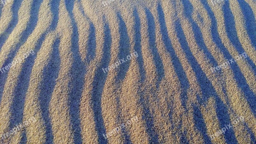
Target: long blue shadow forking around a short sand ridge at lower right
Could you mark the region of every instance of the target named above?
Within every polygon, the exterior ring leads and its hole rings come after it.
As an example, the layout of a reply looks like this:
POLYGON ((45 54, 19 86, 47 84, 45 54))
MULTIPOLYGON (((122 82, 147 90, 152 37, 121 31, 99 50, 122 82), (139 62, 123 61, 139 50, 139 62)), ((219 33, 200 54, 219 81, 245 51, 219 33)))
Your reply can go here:
MULTIPOLYGON (((217 95, 214 87, 212 86, 212 83, 209 81, 203 70, 200 68, 200 65, 197 63, 196 58, 193 56, 192 52, 189 49, 188 43, 186 41, 186 37, 183 33, 183 30, 180 25, 180 21, 176 22, 176 31, 178 34, 179 42, 181 44, 182 49, 184 50, 186 57, 193 69, 193 71, 196 73, 196 79, 197 82, 200 85, 201 91, 203 93, 202 98, 197 96, 198 102, 200 105, 204 105, 205 102, 207 102, 208 98, 210 96, 213 96, 213 98, 216 100, 216 113, 217 117, 220 122, 220 127, 225 127, 225 124, 230 123, 230 117, 228 114, 228 108, 225 106, 223 101, 219 98, 217 95)), ((202 116, 202 113, 198 106, 194 105, 194 120, 196 128, 201 132, 203 135, 204 141, 206 143, 211 143, 211 140, 209 136, 207 135, 206 131, 206 124, 204 122, 204 118, 202 116)), ((236 137, 233 130, 229 130, 224 134, 225 139, 227 140, 227 143, 237 143, 236 137)))

